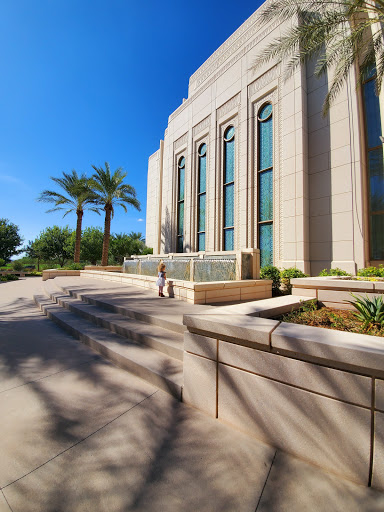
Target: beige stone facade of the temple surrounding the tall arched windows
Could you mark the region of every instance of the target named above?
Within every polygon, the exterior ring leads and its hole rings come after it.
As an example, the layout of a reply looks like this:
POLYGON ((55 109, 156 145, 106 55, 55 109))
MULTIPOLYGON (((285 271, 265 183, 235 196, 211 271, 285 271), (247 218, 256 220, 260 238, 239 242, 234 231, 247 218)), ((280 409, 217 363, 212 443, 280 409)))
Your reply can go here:
MULTIPOLYGON (((169 117, 164 138, 161 252, 176 250, 177 161, 186 158, 184 250, 196 250, 197 148, 207 144, 206 250, 223 249, 223 133, 235 126, 235 250, 257 247, 257 112, 273 104, 274 264, 312 275, 325 267, 364 266, 364 217, 358 103, 354 77, 329 115, 327 78, 313 66, 283 80, 279 66, 254 72, 257 52, 280 34, 252 15, 192 75, 189 97, 169 117)), ((152 165, 152 164, 151 164, 152 165)), ((157 213, 150 167, 147 231, 157 213)), ((155 243, 152 243, 155 247, 155 243)))

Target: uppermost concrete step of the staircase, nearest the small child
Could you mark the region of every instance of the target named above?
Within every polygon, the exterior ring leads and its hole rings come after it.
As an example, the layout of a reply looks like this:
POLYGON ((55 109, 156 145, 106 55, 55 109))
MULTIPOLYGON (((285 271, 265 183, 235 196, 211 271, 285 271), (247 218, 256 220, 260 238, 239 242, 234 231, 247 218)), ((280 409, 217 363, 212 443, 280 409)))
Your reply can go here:
MULTIPOLYGON (((183 325, 182 314, 175 314, 174 318, 172 319, 170 318, 171 315, 168 315, 167 318, 164 318, 158 312, 150 311, 148 305, 143 306, 135 304, 134 301, 124 301, 124 299, 115 298, 111 295, 108 295, 108 293, 102 295, 89 292, 84 293, 81 291, 73 290, 70 286, 66 287, 65 285, 54 283, 54 281, 56 281, 56 279, 45 281, 45 283, 49 283, 49 286, 56 287, 61 292, 68 294, 71 297, 82 300, 83 302, 97 306, 106 311, 129 317, 134 320, 139 320, 147 324, 156 325, 163 329, 167 329, 168 331, 173 331, 179 334, 184 334, 184 331, 186 330, 185 325, 183 325)), ((168 303, 169 301, 169 308, 172 308, 175 304, 172 302, 174 299, 165 298, 160 300, 162 304, 165 304, 165 302, 168 303)))

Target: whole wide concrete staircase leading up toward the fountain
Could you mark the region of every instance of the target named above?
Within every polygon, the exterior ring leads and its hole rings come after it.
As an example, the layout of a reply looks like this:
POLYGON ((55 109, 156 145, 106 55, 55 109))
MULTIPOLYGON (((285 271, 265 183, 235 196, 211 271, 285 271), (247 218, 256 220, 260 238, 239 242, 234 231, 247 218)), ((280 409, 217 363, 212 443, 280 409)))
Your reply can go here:
POLYGON ((40 310, 106 359, 181 400, 183 303, 140 290, 125 292, 124 299, 123 288, 112 283, 99 281, 97 289, 91 280, 81 279, 79 286, 75 279, 45 281, 42 294, 34 296, 40 310))

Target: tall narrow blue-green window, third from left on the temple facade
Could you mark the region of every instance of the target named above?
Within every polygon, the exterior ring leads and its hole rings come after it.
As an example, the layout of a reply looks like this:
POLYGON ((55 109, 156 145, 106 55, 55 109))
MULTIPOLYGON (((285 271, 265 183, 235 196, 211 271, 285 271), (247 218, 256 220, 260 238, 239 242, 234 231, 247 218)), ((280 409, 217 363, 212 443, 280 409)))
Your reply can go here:
POLYGON ((235 231, 235 128, 229 126, 224 133, 224 251, 233 251, 235 231))

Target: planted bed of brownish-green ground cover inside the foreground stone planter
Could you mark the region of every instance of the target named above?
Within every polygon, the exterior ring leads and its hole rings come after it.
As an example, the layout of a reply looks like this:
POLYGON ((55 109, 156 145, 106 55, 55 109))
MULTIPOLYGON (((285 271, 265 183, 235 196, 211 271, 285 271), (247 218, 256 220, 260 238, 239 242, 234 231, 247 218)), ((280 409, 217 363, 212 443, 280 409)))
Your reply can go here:
POLYGON ((384 326, 373 324, 366 326, 364 322, 356 318, 354 311, 318 307, 315 301, 303 305, 297 311, 275 317, 275 320, 336 331, 384 336, 384 326))

